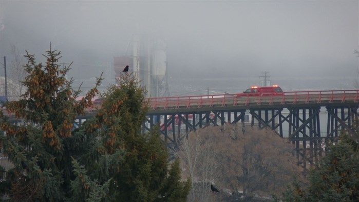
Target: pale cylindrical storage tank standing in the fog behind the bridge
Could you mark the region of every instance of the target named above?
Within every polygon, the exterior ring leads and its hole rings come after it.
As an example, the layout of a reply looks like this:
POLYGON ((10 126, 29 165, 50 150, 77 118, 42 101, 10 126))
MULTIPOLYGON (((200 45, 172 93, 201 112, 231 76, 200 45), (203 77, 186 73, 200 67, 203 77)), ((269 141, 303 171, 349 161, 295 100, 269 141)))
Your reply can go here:
POLYGON ((151 74, 152 79, 161 82, 166 74, 167 51, 163 41, 154 43, 152 52, 151 74))

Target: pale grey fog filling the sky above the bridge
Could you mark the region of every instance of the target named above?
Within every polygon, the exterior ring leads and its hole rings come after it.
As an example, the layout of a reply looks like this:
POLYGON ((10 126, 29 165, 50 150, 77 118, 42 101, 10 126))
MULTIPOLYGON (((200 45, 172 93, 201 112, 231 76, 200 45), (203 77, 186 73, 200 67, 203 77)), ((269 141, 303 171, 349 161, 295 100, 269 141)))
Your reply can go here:
POLYGON ((167 43, 173 95, 240 92, 264 71, 286 90, 354 89, 358 78, 358 1, 0 0, 0 19, 0 57, 10 63, 15 45, 43 60, 51 42, 79 82, 134 34, 167 43))

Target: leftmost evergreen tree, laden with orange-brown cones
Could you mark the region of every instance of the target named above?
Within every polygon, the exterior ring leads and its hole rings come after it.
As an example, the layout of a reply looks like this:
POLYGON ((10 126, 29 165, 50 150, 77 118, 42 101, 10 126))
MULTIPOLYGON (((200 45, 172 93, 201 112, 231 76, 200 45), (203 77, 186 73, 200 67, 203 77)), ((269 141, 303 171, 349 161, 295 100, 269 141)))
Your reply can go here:
MULTIPOLYGON (((3 193, 12 201, 63 201, 71 179, 71 158, 81 150, 78 137, 72 136, 75 117, 92 105, 96 87, 81 101, 80 91, 71 89, 72 80, 65 78, 69 67, 58 64, 61 52, 44 55, 45 65, 35 62, 27 52, 26 88, 23 98, 6 105, 8 115, 0 112, 2 152, 13 164, 2 181, 3 193), (21 123, 14 124, 14 122, 21 123), (71 142, 76 144, 69 144, 71 142), (80 147, 79 147, 80 146, 80 147)), ((82 141, 82 140, 81 140, 82 141)))

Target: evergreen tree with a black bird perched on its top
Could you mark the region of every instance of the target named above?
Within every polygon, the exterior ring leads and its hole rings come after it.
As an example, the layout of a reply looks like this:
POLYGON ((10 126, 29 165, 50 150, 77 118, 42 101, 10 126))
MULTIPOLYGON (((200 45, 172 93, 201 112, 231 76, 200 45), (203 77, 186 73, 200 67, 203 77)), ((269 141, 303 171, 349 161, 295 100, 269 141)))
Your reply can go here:
POLYGON ((133 75, 125 74, 104 93, 102 108, 83 126, 99 139, 81 163, 89 178, 100 184, 110 180, 108 200, 185 201, 190 182, 180 181, 179 161, 169 165, 158 130, 141 134, 147 103, 138 86, 133 75))

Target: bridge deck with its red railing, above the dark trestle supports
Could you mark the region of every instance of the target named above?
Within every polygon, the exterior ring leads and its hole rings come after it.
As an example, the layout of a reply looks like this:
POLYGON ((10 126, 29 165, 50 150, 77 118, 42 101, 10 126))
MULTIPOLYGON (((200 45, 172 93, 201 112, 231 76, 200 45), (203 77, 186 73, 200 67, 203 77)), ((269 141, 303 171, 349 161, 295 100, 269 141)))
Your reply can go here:
POLYGON ((272 96, 237 96, 237 94, 150 98, 149 114, 177 111, 201 111, 208 108, 260 109, 351 104, 357 105, 359 90, 295 91, 272 96))

